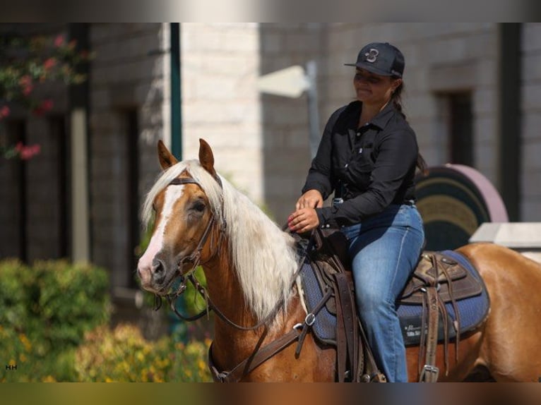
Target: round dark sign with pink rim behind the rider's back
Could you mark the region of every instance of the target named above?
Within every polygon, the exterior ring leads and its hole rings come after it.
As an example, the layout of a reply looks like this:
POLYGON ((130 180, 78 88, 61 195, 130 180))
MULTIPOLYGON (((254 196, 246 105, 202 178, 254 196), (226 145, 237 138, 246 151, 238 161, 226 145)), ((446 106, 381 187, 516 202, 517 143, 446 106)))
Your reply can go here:
POLYGON ((456 249, 467 244, 483 222, 509 221, 496 188, 472 167, 432 167, 415 181, 427 250, 456 249))

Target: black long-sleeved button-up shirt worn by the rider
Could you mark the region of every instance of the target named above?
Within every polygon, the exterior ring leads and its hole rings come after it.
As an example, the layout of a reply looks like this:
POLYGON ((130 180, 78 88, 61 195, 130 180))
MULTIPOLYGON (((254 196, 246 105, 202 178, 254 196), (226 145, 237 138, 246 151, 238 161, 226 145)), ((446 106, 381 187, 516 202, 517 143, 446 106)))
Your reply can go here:
POLYGON ((333 191, 344 203, 317 208, 320 226, 347 226, 415 200, 415 132, 392 103, 358 128, 362 102, 336 110, 328 120, 302 193, 333 191))

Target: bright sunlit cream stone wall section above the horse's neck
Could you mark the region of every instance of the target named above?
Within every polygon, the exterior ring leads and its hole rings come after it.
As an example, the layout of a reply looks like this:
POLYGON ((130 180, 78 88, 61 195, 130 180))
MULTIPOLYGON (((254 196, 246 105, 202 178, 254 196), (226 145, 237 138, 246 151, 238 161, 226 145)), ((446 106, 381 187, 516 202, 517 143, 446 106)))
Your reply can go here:
POLYGON ((199 138, 215 168, 263 202, 257 23, 182 23, 183 159, 197 159, 199 138))

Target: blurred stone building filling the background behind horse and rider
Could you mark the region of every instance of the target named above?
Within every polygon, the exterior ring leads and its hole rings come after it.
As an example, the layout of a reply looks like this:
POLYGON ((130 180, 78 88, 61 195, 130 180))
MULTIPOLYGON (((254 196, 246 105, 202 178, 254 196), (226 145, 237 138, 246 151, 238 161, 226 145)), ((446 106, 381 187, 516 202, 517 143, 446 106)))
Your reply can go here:
POLYGON ((498 188, 511 220, 541 221, 541 24, 16 29, 64 33, 95 59, 85 85, 42 89, 55 101, 50 114, 14 111, 2 126, 2 139, 39 142, 42 154, 0 162, 1 258, 90 260, 111 271, 114 294, 130 296, 142 237, 138 210, 160 171, 158 139, 186 159, 206 139, 218 171, 283 224, 311 159, 307 96, 261 94, 257 79, 315 61, 321 129, 353 99, 352 69, 343 64, 374 41, 405 54, 406 114, 427 162, 475 167, 498 188))

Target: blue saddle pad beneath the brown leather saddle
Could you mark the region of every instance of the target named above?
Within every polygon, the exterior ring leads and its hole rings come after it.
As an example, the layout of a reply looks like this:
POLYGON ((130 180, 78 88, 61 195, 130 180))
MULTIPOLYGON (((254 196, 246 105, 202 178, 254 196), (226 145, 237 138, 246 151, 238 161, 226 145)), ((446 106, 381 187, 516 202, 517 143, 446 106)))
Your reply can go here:
MULTIPOLYGON (((456 260, 463 265, 479 280, 483 286, 482 293, 478 296, 465 298, 457 301, 458 313, 460 315, 460 333, 468 332, 475 329, 484 319, 487 317, 490 302, 487 290, 484 288, 484 283, 477 270, 471 265, 471 263, 460 253, 456 253, 453 250, 445 250, 442 254, 456 260)), ((307 304, 309 312, 319 304, 323 298, 323 291, 316 279, 316 274, 312 270, 309 262, 305 262, 302 268, 302 287, 304 290, 304 299, 307 304)), ((451 303, 446 303, 448 311, 448 334, 449 337, 455 337, 455 331, 453 330, 453 320, 455 320, 455 313, 451 303)), ((400 327, 402 330, 405 345, 420 344, 421 338, 421 325, 422 325, 422 305, 405 305, 398 304, 397 306, 398 318, 400 319, 400 327)), ((441 315, 440 315, 441 320, 441 315)), ((336 315, 331 313, 326 306, 323 306, 319 313, 316 314, 316 320, 312 325, 312 330, 316 337, 328 344, 336 343, 336 315)), ((444 325, 443 322, 439 322, 439 340, 444 339, 444 325)))

